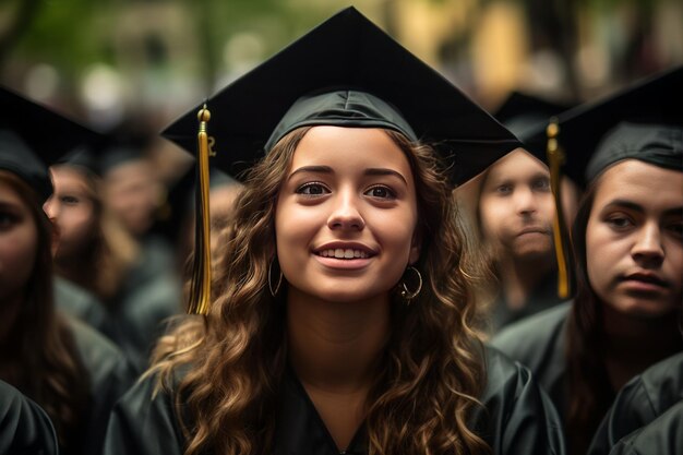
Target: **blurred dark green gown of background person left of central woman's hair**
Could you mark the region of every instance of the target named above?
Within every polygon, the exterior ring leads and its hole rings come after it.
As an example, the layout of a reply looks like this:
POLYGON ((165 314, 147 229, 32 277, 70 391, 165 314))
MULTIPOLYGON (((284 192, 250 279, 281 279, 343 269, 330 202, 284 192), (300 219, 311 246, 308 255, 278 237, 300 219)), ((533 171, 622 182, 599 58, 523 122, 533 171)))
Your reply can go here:
POLYGON ((180 312, 180 283, 170 253, 155 241, 145 242, 139 262, 122 288, 107 302, 103 333, 125 355, 136 374, 144 372, 164 322, 180 312))

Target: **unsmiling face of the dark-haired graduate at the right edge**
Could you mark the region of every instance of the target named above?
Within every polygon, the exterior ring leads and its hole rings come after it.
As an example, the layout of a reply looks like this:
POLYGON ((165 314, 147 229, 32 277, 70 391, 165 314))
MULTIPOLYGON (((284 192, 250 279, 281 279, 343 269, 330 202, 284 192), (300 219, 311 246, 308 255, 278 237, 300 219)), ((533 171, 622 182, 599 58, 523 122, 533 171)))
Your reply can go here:
POLYGON ((586 229, 590 285, 612 309, 655 318, 681 308, 683 172, 625 160, 601 177, 586 229))

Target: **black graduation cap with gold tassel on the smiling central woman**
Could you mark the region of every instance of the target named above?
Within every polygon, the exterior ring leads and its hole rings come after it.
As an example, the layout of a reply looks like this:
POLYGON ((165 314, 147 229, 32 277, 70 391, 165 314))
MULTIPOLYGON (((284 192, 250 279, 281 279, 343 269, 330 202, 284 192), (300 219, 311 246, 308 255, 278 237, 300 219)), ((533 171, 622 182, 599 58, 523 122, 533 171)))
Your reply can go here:
MULTIPOLYGON (((520 146, 488 112, 354 8, 232 82, 206 107, 216 123, 209 132, 211 116, 207 109, 200 110, 197 207, 203 213, 197 214, 197 236, 206 239, 208 187, 202 181, 208 173, 209 153, 215 154, 212 165, 242 179, 244 170, 296 128, 386 128, 432 143, 446 161, 452 182, 459 183, 520 146)), ((163 135, 194 151, 200 108, 163 135)), ((205 311, 209 250, 199 237, 195 244, 203 247, 195 253, 195 278, 205 289, 192 291, 192 299, 203 300, 205 311)))

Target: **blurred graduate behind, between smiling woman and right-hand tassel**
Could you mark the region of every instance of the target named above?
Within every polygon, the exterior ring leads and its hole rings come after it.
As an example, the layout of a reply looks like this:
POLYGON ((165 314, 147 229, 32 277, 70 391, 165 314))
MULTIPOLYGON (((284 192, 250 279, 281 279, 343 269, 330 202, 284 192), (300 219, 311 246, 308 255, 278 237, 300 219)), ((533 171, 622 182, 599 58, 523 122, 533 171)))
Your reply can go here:
POLYGON ((456 190, 462 216, 471 225, 472 254, 487 252, 496 284, 487 314, 488 331, 553 307, 558 295, 552 224, 555 202, 546 165, 544 141, 531 141, 551 116, 566 106, 513 93, 496 113, 523 143, 490 166, 480 177, 456 190), (470 199, 470 201, 465 201, 470 199))

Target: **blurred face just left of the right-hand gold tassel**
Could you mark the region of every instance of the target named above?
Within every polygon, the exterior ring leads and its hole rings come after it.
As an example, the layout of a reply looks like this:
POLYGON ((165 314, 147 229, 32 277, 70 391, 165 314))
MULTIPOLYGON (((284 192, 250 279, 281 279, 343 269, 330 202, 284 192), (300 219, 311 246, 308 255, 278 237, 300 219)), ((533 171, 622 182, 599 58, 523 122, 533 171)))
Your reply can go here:
POLYGON ((519 260, 552 255, 554 215, 550 173, 541 161, 519 148, 490 168, 479 216, 487 241, 501 253, 519 260))

